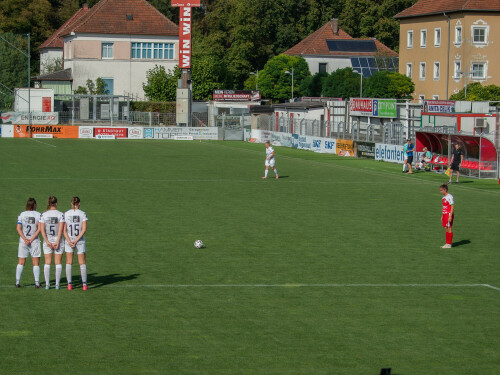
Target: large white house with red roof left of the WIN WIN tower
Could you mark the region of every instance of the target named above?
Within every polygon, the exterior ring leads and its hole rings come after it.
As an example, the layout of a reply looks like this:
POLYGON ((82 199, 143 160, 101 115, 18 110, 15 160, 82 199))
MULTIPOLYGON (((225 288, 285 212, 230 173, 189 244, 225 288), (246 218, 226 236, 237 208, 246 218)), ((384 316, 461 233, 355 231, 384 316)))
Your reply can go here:
MULTIPOLYGON (((143 98, 146 72, 178 65, 178 26, 146 0, 101 0, 84 5, 40 47, 42 87, 71 82, 72 90, 102 78, 108 94, 143 98), (44 74, 62 58, 64 74, 44 74), (62 80, 60 80, 62 79, 62 80)), ((57 89, 55 90, 57 93, 57 89)))

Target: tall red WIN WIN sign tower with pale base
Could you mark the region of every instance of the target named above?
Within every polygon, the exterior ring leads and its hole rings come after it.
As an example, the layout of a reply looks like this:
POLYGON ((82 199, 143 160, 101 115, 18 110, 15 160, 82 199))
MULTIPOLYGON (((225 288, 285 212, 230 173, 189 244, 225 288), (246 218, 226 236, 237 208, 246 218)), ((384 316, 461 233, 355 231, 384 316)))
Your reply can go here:
POLYGON ((177 85, 177 126, 191 126, 191 19, 192 8, 201 6, 200 0, 172 0, 173 7, 179 7, 179 68, 181 79, 177 85))

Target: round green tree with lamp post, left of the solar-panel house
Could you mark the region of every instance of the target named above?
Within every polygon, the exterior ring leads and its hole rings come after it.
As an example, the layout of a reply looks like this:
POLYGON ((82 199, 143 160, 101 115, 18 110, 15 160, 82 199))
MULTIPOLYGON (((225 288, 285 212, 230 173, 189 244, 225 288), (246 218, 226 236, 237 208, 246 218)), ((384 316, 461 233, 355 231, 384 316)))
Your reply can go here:
POLYGON ((262 96, 273 101, 285 101, 292 95, 292 76, 285 72, 293 69, 294 97, 302 95, 300 85, 311 75, 306 60, 301 56, 278 55, 269 60, 259 71, 259 90, 262 96))

